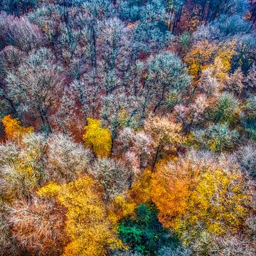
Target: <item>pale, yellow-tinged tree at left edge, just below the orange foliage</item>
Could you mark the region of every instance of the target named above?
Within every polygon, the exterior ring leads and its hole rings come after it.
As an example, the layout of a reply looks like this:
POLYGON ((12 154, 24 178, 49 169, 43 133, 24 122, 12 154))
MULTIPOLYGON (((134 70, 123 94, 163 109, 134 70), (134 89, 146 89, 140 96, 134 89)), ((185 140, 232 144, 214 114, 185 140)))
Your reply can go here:
POLYGON ((29 200, 44 174, 46 139, 41 134, 26 134, 17 142, 0 147, 1 201, 12 203, 16 198, 29 200))

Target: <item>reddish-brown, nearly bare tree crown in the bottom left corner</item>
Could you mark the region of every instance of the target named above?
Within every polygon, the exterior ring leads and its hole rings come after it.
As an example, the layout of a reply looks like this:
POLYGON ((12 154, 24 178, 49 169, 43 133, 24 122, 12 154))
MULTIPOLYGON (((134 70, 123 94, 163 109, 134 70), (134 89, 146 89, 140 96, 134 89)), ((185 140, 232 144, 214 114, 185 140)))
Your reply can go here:
POLYGON ((60 255, 66 244, 65 215, 53 201, 34 196, 15 201, 9 210, 12 235, 23 248, 37 255, 60 255))

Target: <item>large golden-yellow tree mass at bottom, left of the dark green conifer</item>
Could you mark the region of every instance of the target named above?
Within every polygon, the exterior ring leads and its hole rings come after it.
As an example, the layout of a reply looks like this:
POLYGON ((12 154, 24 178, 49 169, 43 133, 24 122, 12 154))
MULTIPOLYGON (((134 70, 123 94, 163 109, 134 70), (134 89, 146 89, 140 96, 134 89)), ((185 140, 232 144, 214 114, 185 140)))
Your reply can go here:
POLYGON ((38 191, 40 196, 55 198, 67 208, 66 232, 70 243, 63 255, 107 255, 107 248, 122 247, 107 220, 102 191, 89 176, 62 186, 49 183, 38 191))

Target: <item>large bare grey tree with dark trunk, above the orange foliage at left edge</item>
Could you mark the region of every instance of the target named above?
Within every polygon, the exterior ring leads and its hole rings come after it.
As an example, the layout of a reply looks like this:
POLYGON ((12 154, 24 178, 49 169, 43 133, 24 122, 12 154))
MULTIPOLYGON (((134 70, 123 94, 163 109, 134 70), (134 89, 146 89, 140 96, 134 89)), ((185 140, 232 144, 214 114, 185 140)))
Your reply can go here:
POLYGON ((18 104, 19 112, 35 113, 48 129, 51 129, 49 112, 54 111, 63 86, 63 76, 50 55, 46 48, 31 53, 26 62, 6 78, 9 97, 18 104))

